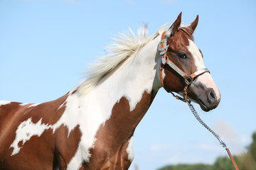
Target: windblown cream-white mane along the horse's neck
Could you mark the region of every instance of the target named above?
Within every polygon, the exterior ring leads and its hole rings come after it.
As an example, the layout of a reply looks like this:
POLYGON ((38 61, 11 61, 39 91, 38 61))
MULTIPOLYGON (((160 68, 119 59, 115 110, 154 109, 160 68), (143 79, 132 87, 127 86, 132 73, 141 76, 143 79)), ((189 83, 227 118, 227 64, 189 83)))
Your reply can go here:
POLYGON ((131 29, 127 33, 119 33, 116 38, 113 38, 114 42, 107 46, 106 49, 109 53, 103 55, 88 67, 88 71, 85 72, 87 79, 78 86, 80 94, 87 94, 92 91, 105 75, 112 72, 117 65, 128 58, 134 57, 134 54, 139 52, 142 47, 161 35, 168 25, 169 23, 161 26, 156 33, 149 37, 147 37, 146 24, 137 30, 136 35, 131 29))

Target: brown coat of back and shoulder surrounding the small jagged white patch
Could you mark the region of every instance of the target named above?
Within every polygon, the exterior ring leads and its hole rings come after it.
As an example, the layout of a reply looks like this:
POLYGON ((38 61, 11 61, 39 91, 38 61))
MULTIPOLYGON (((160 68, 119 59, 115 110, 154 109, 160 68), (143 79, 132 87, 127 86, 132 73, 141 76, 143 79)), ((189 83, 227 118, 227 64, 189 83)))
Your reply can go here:
POLYGON ((75 155, 80 142, 81 132, 76 126, 68 135, 68 128, 61 125, 60 128, 44 130, 40 137, 32 136, 24 144, 18 142, 21 147, 18 154, 11 156, 14 148, 10 147, 16 138, 16 130, 19 125, 29 118, 33 123, 54 125, 65 111, 65 101, 68 94, 55 101, 41 103, 38 106, 31 104, 21 106, 21 103, 11 102, 0 107, 0 169, 53 169, 60 166, 65 169, 66 164, 75 155), (63 104, 62 107, 60 107, 63 104))

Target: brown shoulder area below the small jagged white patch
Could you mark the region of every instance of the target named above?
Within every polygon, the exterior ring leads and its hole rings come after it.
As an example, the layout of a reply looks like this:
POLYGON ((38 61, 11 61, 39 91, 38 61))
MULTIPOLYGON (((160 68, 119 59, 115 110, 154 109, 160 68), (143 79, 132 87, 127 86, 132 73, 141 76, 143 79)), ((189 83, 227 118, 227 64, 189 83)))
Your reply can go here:
POLYGON ((81 136, 79 125, 71 130, 69 135, 65 125, 61 125, 54 134, 51 129, 45 130, 40 137, 35 135, 24 145, 20 145, 22 148, 18 154, 2 157, 4 162, 0 167, 21 170, 55 169, 56 167, 66 169, 78 149, 81 136))

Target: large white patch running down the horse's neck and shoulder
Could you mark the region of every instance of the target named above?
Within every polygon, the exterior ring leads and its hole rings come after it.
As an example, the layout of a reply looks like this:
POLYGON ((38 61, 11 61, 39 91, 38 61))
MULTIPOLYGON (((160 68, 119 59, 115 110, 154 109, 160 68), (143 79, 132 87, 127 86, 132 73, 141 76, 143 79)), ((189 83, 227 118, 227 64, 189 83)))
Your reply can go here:
MULTIPOLYGON (((90 149, 94 147, 97 130, 110 118, 115 103, 125 97, 129 101, 129 110, 133 111, 142 99, 142 94, 145 91, 147 93, 152 91, 156 79, 154 57, 158 42, 159 40, 155 40, 152 45, 144 48, 137 54, 136 59, 126 60, 113 74, 103 78, 95 89, 85 96, 82 94, 68 96, 65 113, 58 123, 66 125, 69 131, 79 123, 82 137, 67 169, 80 169, 83 161, 90 161, 90 149), (68 119, 69 117, 72 117, 72 120, 68 119)), ((158 89, 154 90, 158 91, 158 89)), ((129 156, 132 159, 132 152, 129 156)))

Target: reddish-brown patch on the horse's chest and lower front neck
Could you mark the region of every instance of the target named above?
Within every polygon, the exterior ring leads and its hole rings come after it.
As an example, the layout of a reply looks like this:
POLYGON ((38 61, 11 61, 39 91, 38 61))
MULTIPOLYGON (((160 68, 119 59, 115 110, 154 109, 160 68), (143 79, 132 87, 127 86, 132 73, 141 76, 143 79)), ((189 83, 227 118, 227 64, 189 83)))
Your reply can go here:
POLYGON ((129 140, 153 99, 153 91, 150 94, 145 91, 142 100, 130 111, 129 101, 122 97, 112 108, 110 119, 100 125, 90 149, 90 162, 85 162, 81 169, 128 169, 129 140))

